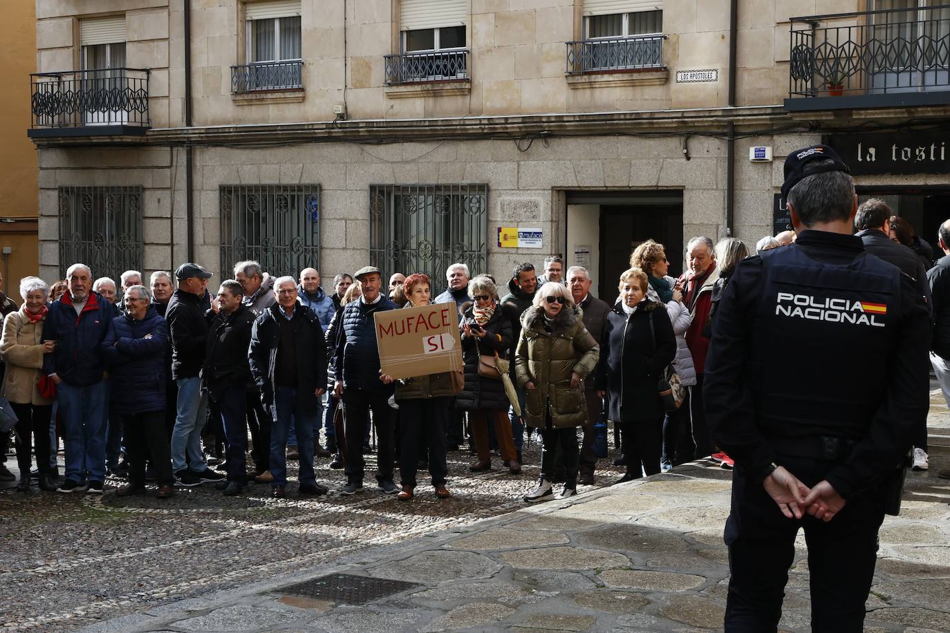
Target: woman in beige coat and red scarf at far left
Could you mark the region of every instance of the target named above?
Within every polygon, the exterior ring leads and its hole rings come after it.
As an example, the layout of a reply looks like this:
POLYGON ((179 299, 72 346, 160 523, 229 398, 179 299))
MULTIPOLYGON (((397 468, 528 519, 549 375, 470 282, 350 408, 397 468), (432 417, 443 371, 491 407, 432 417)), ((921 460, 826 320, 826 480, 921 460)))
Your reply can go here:
POLYGON ((0 356, 7 363, 4 373, 3 396, 10 401, 16 417, 16 462, 20 467, 20 481, 16 490, 29 490, 29 449, 35 442, 36 467, 40 472, 40 488, 55 491, 59 485, 49 465, 49 415, 52 400, 40 393, 37 382, 43 377, 43 355, 51 353, 55 341, 40 343, 43 324, 47 318, 47 283, 39 277, 20 280, 23 306, 10 312, 4 319, 0 338, 0 356), (30 441, 32 435, 32 442, 30 441))

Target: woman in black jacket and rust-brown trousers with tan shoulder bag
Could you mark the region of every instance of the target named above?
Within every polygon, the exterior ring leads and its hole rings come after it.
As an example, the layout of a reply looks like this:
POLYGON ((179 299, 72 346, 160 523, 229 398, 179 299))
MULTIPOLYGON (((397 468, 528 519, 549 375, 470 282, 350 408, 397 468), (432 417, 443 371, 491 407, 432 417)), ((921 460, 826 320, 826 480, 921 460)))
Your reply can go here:
POLYGON ((466 386, 455 399, 459 409, 468 411, 472 437, 478 459, 468 470, 472 472, 491 469, 491 454, 488 448, 488 420, 495 424, 498 448, 512 475, 522 472, 511 436, 508 420, 508 396, 504 391, 501 375, 489 376, 495 357, 505 358, 511 347, 511 321, 504 316, 501 305, 495 300, 495 283, 485 275, 468 282, 468 296, 474 303, 462 305, 462 360, 465 363, 466 386), (480 364, 482 365, 480 371, 480 364))

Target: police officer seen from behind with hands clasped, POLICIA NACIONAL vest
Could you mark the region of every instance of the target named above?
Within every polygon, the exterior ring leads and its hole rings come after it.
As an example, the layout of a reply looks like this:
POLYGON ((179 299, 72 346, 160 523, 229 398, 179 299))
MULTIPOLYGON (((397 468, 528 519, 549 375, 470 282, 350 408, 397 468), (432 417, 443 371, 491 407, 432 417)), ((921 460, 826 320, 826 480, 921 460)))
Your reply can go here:
POLYGON ((834 150, 792 152, 782 196, 798 239, 736 267, 706 362, 712 438, 735 458, 726 630, 776 630, 804 528, 812 630, 861 631, 885 491, 926 414, 927 308, 851 234, 834 150))

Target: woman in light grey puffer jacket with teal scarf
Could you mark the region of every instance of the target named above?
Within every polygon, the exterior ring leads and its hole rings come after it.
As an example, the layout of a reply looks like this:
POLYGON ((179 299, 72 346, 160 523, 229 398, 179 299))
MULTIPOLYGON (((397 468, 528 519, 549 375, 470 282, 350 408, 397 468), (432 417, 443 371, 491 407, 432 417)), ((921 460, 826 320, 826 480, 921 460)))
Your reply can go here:
MULTIPOLYGON (((676 335, 676 357, 673 366, 684 386, 696 383, 693 356, 686 346, 686 330, 692 321, 690 310, 683 305, 683 293, 675 286, 675 278, 667 274, 670 263, 662 244, 648 239, 630 255, 630 266, 647 273, 650 288, 647 297, 666 306, 676 335)), ((663 420, 663 450, 660 456, 663 471, 693 459, 693 436, 690 423, 689 396, 680 407, 663 420)))

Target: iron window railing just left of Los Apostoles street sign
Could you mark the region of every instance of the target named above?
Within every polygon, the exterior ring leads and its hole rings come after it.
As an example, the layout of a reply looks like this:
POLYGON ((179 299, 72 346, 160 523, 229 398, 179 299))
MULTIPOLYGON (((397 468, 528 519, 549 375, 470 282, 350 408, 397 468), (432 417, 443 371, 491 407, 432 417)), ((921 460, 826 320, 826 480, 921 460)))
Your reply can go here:
POLYGON ((666 35, 637 35, 567 43, 567 74, 663 68, 666 35))

